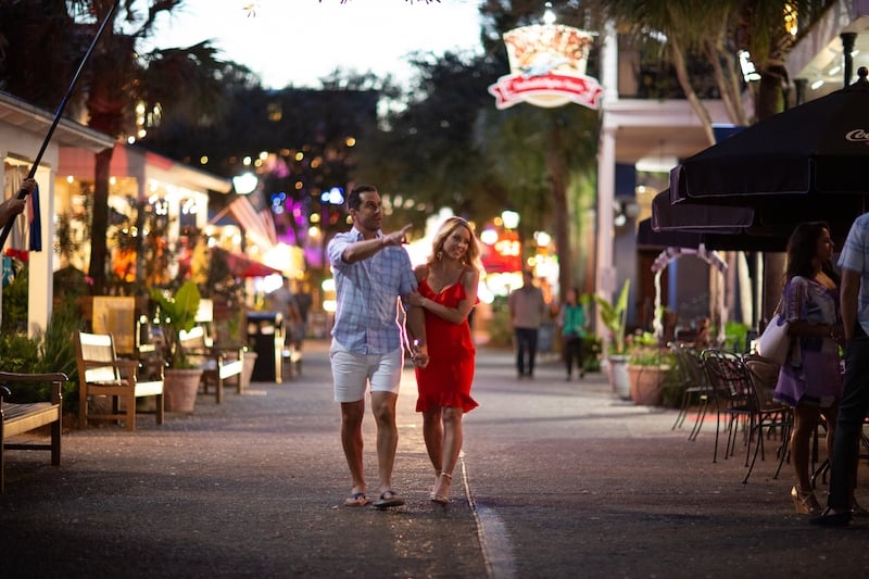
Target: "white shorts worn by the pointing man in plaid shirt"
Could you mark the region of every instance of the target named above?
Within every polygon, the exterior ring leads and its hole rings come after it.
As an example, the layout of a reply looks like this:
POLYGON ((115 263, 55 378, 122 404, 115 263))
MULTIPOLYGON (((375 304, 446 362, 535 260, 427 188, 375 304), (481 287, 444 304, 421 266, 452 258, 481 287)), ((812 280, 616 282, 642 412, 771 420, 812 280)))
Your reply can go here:
POLYGON ((336 402, 357 402, 371 392, 399 393, 404 355, 401 348, 388 354, 357 354, 332 339, 329 347, 336 402))

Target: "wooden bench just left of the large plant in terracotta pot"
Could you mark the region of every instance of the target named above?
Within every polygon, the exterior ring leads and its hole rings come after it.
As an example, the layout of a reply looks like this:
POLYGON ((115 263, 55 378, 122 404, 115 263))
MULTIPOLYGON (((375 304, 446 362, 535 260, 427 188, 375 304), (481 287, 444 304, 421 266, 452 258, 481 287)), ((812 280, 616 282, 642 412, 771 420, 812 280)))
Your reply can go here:
POLYGON ((136 400, 154 397, 156 424, 163 424, 163 373, 159 379, 140 381, 139 362, 122 360, 115 354, 111 333, 75 333, 78 365, 78 421, 81 428, 88 420, 123 420, 127 430, 136 430, 136 400), (111 399, 111 412, 90 412, 93 398, 111 399), (123 405, 122 405, 123 403, 123 405))

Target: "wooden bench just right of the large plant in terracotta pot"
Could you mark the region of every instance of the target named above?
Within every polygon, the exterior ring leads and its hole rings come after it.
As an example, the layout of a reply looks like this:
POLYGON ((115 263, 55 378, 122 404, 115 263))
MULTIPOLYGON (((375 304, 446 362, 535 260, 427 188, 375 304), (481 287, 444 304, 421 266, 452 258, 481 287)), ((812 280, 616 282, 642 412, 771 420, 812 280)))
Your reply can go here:
POLYGON ((202 368, 202 389, 205 394, 214 387, 217 404, 222 403, 224 385, 230 378, 234 379, 238 393, 242 393, 241 370, 244 367, 242 348, 214 347, 202 326, 194 326, 190 331, 181 332, 180 340, 188 361, 202 368))

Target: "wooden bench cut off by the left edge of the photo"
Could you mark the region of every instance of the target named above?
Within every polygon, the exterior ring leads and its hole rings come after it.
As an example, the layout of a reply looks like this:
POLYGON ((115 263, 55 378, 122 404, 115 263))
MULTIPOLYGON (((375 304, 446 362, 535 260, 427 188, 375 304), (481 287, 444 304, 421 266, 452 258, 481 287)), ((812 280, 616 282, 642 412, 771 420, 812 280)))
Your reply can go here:
POLYGON ((5 491, 5 451, 51 451, 51 464, 61 464, 61 423, 63 416, 61 387, 68 378, 65 374, 13 374, 0 372, 0 493, 5 491), (50 383, 50 402, 15 403, 15 385, 50 383), (10 389, 9 387, 12 387, 10 389), (10 438, 29 432, 42 426, 51 426, 51 443, 7 442, 10 438))

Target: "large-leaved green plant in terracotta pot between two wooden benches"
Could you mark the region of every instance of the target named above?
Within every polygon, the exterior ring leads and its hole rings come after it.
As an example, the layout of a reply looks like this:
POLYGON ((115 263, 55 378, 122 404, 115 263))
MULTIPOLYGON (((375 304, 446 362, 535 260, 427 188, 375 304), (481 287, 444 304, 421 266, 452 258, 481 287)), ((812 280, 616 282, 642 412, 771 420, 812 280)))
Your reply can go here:
POLYGON ((169 298, 162 290, 151 288, 151 299, 159 310, 164 355, 168 365, 163 380, 166 410, 191 413, 196 406, 202 369, 188 362, 181 345, 181 332, 190 331, 196 326, 201 299, 199 288, 188 280, 169 298))

